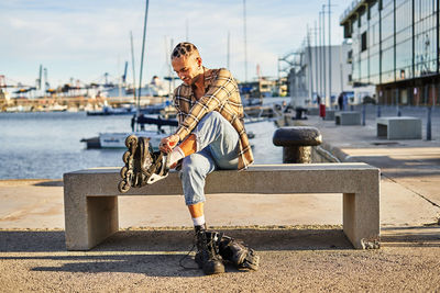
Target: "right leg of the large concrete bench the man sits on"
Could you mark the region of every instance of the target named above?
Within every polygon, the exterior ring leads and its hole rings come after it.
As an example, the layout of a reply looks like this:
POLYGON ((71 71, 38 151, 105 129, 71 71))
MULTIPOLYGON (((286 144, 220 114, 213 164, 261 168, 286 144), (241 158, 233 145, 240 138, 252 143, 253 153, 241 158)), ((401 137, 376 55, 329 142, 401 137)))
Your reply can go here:
POLYGON ((378 192, 343 194, 343 230, 354 248, 380 247, 378 192))

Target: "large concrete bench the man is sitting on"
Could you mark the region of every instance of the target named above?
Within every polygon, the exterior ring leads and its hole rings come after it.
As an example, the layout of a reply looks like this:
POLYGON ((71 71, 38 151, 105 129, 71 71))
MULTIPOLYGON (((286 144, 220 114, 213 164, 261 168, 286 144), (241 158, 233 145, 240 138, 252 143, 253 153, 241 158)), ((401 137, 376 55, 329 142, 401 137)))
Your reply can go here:
MULTIPOLYGON (((64 174, 66 247, 88 250, 119 229, 118 196, 182 194, 177 172, 152 185, 118 191, 119 168, 64 174)), ((342 193, 343 230, 355 248, 378 243, 380 170, 366 164, 254 165, 215 171, 206 193, 342 193)), ((310 211, 320 213, 319 211, 310 211)))

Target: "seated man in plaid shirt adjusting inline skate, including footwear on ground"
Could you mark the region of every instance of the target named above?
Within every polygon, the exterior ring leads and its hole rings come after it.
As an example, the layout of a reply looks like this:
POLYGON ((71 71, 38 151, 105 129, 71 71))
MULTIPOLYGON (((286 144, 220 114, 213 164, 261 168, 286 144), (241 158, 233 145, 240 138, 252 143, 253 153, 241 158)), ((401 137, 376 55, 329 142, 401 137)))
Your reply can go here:
POLYGON ((178 112, 177 131, 161 140, 152 153, 148 139, 129 137, 120 191, 151 184, 165 178, 168 169, 180 170, 185 202, 191 215, 199 268, 206 274, 224 272, 222 260, 256 270, 258 256, 243 243, 206 229, 205 179, 217 169, 243 170, 253 162, 244 129, 240 91, 231 72, 202 66, 194 44, 179 43, 172 65, 183 83, 174 91, 178 112))

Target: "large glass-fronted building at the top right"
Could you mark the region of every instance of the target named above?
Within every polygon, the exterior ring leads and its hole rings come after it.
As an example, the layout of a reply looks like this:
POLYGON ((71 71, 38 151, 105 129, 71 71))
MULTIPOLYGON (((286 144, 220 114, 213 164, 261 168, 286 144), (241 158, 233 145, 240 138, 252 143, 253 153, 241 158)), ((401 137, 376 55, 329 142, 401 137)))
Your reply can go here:
POLYGON ((382 104, 440 104, 440 0, 354 0, 340 18, 354 87, 382 104))

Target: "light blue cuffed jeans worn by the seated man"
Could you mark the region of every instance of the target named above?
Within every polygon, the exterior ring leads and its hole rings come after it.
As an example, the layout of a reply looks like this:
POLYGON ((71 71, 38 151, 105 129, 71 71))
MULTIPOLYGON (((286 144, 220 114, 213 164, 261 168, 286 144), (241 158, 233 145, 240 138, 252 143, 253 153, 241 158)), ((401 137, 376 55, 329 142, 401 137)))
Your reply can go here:
POLYGON ((179 173, 187 205, 206 201, 205 179, 210 172, 239 167, 239 134, 219 112, 206 114, 193 134, 197 153, 184 158, 179 173))

